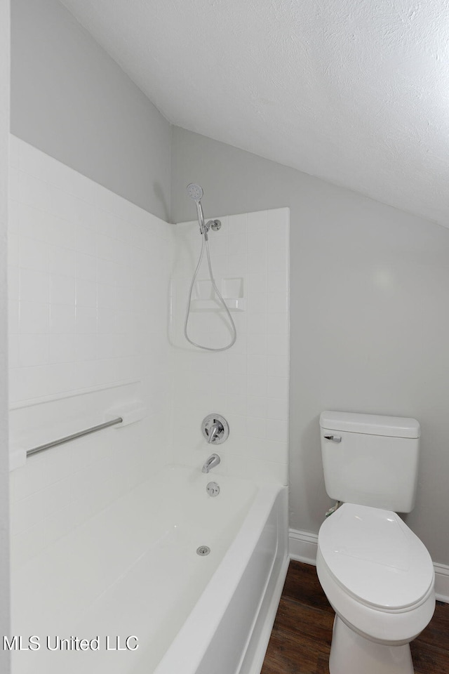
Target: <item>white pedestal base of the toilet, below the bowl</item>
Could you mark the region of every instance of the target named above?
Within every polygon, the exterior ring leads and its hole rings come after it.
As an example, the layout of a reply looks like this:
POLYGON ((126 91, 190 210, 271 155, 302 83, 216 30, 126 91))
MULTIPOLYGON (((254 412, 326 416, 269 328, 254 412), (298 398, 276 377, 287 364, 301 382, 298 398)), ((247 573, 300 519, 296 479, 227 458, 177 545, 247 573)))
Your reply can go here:
POLYGON ((330 674, 413 674, 410 645, 384 646, 361 637, 336 615, 330 674))

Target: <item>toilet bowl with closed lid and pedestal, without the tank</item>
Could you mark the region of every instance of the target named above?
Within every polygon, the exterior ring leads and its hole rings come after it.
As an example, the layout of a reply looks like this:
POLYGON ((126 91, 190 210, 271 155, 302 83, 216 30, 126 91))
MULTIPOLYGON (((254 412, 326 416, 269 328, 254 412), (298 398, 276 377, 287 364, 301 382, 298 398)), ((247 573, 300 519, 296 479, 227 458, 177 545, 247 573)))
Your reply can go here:
POLYGON ((316 570, 335 610, 330 674, 413 674, 434 613, 434 567, 391 510, 344 503, 321 525, 316 570))

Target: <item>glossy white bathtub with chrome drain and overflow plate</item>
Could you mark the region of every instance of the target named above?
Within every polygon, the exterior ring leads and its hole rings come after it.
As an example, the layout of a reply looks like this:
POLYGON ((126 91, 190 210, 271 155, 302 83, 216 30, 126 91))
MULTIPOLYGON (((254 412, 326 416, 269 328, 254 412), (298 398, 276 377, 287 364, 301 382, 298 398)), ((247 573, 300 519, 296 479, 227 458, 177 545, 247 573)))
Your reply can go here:
POLYGON ((256 674, 287 548, 286 487, 168 467, 13 569, 13 674, 256 674))

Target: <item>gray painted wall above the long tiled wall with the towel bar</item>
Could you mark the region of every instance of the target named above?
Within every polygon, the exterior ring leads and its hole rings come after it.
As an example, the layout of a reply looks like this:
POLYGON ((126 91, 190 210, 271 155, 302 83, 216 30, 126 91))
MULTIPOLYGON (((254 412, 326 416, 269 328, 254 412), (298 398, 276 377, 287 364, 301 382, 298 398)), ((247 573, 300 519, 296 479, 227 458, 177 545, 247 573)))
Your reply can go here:
POLYGON ((168 121, 58 0, 11 12, 12 133, 168 220, 168 121))

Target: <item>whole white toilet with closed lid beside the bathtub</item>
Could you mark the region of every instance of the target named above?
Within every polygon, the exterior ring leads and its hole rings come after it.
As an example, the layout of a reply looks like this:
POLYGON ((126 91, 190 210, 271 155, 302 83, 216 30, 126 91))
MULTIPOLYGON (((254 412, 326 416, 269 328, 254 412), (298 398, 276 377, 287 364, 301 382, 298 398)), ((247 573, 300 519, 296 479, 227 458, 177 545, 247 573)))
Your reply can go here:
POLYGON ((435 608, 434 567, 396 515, 415 502, 415 419, 322 412, 326 491, 344 501, 319 530, 316 571, 335 610, 330 674, 413 674, 410 641, 435 608))

